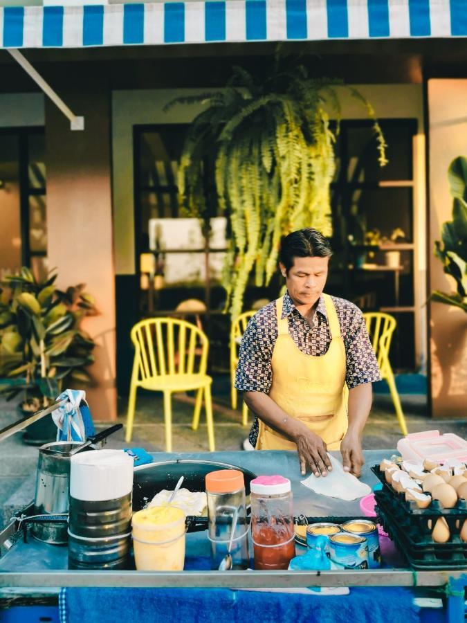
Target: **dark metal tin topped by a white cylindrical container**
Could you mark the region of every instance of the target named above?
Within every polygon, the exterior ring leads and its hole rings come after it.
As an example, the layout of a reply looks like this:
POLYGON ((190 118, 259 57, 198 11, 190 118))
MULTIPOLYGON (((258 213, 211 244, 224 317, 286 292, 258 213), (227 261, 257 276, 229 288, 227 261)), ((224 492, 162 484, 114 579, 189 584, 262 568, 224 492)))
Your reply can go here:
POLYGON ((133 459, 121 450, 71 458, 69 569, 127 568, 133 469, 133 459))

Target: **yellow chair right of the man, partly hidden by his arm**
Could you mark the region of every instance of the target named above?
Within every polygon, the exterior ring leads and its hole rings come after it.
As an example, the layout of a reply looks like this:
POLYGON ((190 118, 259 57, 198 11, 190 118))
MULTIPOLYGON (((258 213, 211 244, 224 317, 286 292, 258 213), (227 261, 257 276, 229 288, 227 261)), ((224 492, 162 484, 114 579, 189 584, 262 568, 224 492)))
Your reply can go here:
POLYGON ((378 366, 381 370, 381 377, 387 381, 390 388, 392 401, 394 408, 396 409, 397 419, 403 435, 408 435, 407 425, 405 424, 405 417, 403 414, 401 400, 399 399, 399 392, 396 388, 396 381, 394 379, 394 372, 389 359, 392 334, 396 328, 396 318, 390 316, 390 314, 383 314, 382 311, 374 311, 363 314, 365 318, 365 325, 367 325, 367 332, 369 338, 372 341, 373 350, 378 359, 378 366))

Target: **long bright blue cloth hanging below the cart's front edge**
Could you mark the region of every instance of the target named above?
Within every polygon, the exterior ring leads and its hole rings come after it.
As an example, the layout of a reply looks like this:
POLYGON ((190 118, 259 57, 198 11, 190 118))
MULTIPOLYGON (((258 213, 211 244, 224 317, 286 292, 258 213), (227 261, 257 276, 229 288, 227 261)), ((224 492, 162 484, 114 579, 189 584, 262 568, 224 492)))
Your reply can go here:
POLYGON ((228 588, 66 588, 61 623, 419 623, 406 588, 351 588, 350 595, 262 593, 228 588))

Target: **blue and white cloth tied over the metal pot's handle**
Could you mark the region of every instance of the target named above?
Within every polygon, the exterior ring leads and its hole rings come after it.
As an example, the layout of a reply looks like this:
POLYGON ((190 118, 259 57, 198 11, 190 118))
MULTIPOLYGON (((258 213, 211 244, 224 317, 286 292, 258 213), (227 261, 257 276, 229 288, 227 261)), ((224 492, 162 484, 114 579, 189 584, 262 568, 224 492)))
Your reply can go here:
POLYGON ((84 442, 95 435, 93 418, 85 401, 83 390, 65 390, 58 400, 66 399, 66 403, 55 409, 52 418, 57 425, 57 441, 84 442))

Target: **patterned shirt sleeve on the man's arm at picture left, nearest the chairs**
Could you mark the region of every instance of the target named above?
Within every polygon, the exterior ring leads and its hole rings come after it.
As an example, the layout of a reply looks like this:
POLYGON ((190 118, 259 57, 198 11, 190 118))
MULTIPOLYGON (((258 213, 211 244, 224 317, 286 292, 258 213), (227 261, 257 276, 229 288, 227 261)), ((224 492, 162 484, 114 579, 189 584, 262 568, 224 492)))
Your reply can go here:
POLYGON ((262 336, 253 316, 241 338, 239 361, 235 372, 237 390, 269 393, 273 381, 272 351, 273 344, 262 336))

